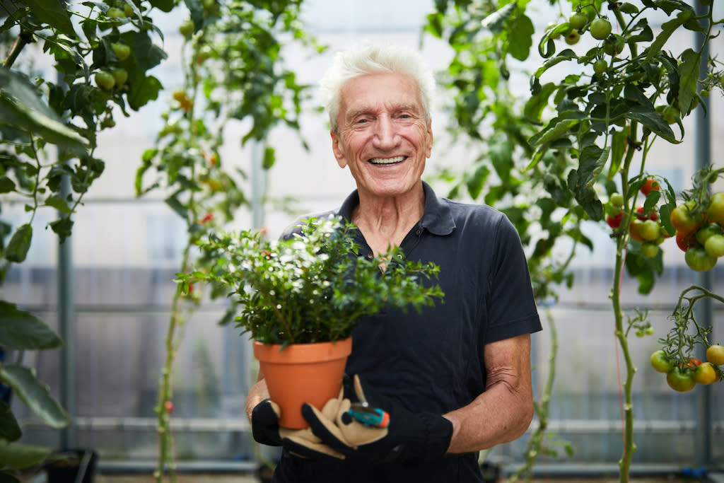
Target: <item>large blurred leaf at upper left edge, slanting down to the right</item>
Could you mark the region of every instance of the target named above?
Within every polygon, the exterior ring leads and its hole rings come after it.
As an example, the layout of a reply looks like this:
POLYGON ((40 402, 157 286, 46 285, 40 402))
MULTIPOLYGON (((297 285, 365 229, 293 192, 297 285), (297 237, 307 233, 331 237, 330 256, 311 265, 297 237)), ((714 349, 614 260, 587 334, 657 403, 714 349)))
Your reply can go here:
POLYGON ((37 135, 49 143, 85 151, 88 141, 64 124, 38 91, 16 72, 0 67, 0 125, 37 135))

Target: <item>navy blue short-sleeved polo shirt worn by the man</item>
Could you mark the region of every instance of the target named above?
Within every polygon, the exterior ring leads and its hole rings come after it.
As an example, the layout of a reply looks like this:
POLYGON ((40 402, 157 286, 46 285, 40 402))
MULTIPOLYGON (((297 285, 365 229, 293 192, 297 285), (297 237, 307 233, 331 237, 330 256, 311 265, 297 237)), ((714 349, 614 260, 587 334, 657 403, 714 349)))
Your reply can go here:
MULTIPOLYGON (((389 310, 364 319, 353 332, 346 372, 361 374, 411 411, 444 414, 484 392, 485 345, 542 327, 513 224, 490 206, 438 198, 423 184, 424 214, 400 248, 408 259, 440 267, 444 301, 421 313, 389 310)), ((358 204, 355 191, 327 214, 350 220, 358 204)), ((356 241, 359 256, 372 256, 361 233, 356 241)), ((477 453, 417 466, 319 463, 284 453, 274 476, 274 482, 482 481, 477 453)))

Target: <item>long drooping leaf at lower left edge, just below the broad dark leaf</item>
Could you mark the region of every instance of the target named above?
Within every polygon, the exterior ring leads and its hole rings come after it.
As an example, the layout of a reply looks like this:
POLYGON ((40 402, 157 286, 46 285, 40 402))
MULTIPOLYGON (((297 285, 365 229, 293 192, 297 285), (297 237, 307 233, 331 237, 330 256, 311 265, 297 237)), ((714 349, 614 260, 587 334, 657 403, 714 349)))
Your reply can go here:
POLYGON ((35 377, 35 370, 15 364, 0 366, 0 381, 9 385, 33 413, 54 429, 70 424, 68 413, 54 400, 49 387, 35 377))

